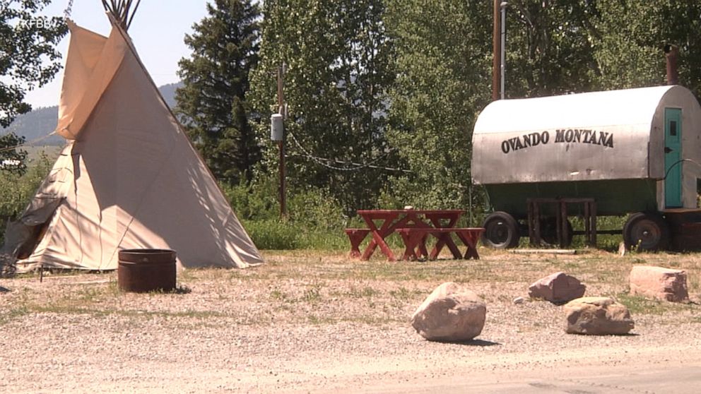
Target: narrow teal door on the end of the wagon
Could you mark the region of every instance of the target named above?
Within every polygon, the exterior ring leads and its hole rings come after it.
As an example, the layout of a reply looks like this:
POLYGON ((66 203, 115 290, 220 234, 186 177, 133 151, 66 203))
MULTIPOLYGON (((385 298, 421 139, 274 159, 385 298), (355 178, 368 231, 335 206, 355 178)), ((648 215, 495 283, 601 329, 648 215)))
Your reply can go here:
POLYGON ((681 207, 681 109, 664 109, 664 205, 681 207))

